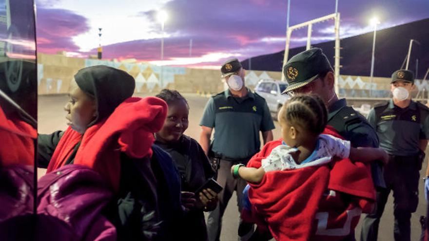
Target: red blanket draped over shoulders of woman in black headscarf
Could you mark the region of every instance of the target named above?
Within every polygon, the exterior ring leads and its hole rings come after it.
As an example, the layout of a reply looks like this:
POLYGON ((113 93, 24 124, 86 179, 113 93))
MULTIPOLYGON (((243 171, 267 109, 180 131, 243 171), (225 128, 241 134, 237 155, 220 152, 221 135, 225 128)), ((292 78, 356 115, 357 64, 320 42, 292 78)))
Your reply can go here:
POLYGON ((156 97, 130 97, 105 120, 88 128, 83 136, 70 127, 64 132, 47 172, 65 165, 78 144, 74 164, 91 167, 118 189, 120 152, 132 158, 152 155, 154 132, 167 116, 167 104, 156 97))

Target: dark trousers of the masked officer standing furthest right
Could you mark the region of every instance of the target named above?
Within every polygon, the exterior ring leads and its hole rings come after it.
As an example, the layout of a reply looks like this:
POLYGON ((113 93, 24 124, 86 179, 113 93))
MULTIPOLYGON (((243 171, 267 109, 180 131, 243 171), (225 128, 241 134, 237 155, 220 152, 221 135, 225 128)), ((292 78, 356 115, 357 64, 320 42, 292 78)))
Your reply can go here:
POLYGON ((361 241, 376 241, 378 224, 389 197, 393 191, 393 214, 395 217, 395 241, 410 240, 410 218, 415 212, 418 198, 418 184, 421 161, 415 156, 392 156, 392 160, 384 168, 384 178, 387 188, 377 188, 377 203, 371 214, 368 214, 362 224, 361 241))

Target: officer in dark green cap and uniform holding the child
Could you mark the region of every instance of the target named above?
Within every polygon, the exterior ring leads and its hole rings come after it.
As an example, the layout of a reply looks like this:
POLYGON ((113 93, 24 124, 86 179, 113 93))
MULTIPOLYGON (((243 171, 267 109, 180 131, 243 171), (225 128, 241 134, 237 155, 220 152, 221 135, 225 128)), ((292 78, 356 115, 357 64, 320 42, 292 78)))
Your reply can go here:
MULTIPOLYGON (((328 107, 328 125, 351 142, 351 146, 378 148, 378 137, 364 116, 347 106, 346 99, 338 99, 334 74, 328 58, 319 48, 312 48, 293 56, 284 66, 283 74, 289 84, 283 93, 318 94, 328 107)), ((375 186, 385 187, 382 167, 371 164, 375 186)), ((347 240, 354 240, 354 230, 347 240)))

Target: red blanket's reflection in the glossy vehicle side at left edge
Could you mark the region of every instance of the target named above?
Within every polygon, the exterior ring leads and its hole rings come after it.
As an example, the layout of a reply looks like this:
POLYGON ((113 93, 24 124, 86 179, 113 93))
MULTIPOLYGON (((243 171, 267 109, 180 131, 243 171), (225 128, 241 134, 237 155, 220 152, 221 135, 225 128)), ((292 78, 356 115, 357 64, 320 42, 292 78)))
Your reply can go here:
POLYGON ((6 116, 0 107, 0 166, 34 165, 37 131, 16 116, 6 116))

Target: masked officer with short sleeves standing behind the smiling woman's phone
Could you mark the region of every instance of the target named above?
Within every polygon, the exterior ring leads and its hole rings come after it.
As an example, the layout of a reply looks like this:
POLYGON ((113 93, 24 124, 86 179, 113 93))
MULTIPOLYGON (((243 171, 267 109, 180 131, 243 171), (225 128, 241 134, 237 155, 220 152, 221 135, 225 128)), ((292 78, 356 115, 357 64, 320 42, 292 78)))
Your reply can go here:
MULTIPOLYGON (((245 72, 238 59, 226 61, 221 73, 229 88, 209 99, 200 122, 200 145, 214 162, 217 182, 224 188, 219 193, 218 206, 209 213, 207 220, 209 241, 219 240, 222 216, 234 190, 237 192, 238 210, 241 211, 240 200, 247 183, 234 179, 231 167, 238 163, 247 164, 259 151, 259 131, 265 144, 273 140, 274 129, 265 99, 245 87, 245 72), (215 134, 211 142, 213 129, 215 134)), ((246 235, 252 229, 251 224, 240 225, 239 235, 246 235)))

